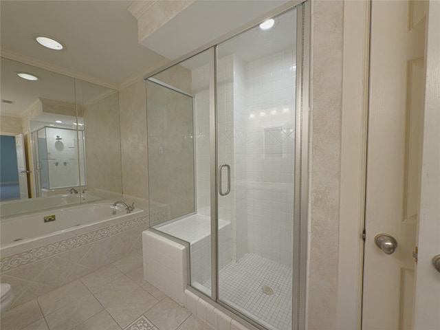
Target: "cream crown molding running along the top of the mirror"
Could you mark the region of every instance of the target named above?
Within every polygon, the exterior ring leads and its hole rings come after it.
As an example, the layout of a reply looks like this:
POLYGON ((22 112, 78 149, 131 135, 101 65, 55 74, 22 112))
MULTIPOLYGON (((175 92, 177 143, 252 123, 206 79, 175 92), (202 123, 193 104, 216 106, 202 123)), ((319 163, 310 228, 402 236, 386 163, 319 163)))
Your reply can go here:
POLYGON ((107 80, 101 80, 98 78, 94 78, 91 76, 87 76, 85 74, 80 74, 80 72, 76 72, 74 70, 66 69, 65 67, 59 67, 58 65, 53 65, 51 63, 47 63, 44 61, 39 61, 34 58, 30 58, 28 56, 18 54, 15 52, 11 52, 10 50, 0 50, 0 56, 3 58, 8 58, 12 61, 18 61, 21 63, 25 63, 28 65, 33 65, 34 67, 40 67, 41 69, 46 69, 52 72, 56 72, 57 74, 64 74, 65 76, 70 76, 72 78, 78 78, 80 80, 87 81, 88 83, 100 85, 103 87, 116 89, 118 90, 119 85, 115 83, 111 83, 107 80))

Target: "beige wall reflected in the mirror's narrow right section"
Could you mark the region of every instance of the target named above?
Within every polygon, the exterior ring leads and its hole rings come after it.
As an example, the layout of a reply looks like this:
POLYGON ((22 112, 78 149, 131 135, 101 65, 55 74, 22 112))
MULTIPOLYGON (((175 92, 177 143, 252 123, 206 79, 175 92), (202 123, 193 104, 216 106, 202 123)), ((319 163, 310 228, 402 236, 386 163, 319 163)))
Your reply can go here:
POLYGON ((122 193, 118 93, 85 107, 84 122, 87 188, 122 193))

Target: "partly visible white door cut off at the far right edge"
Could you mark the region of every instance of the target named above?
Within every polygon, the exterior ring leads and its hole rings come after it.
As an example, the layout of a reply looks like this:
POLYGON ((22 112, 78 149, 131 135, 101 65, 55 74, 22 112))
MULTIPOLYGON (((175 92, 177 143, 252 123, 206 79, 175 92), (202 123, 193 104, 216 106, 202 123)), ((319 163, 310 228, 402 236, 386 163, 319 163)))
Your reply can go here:
POLYGON ((440 1, 430 1, 414 329, 440 329, 440 1), (437 259, 436 259, 437 260, 437 259))

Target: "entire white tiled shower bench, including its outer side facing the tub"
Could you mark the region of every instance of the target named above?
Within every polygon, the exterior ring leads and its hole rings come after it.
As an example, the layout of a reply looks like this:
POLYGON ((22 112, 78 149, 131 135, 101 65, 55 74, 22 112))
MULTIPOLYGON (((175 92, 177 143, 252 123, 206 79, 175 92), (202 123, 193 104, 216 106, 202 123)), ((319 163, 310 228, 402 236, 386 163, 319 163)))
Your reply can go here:
MULTIPOLYGON (((219 219, 219 267, 232 261, 231 223, 219 219)), ((191 273, 192 286, 203 290, 202 283, 210 279, 210 217, 193 214, 172 223, 155 226, 154 230, 142 233, 144 278, 173 298, 185 305, 188 272, 191 273), (162 232, 161 235, 156 232, 162 232), (177 237, 186 244, 173 241, 177 237), (189 250, 188 250, 189 248, 189 250), (190 270, 188 270, 188 257, 190 270)))

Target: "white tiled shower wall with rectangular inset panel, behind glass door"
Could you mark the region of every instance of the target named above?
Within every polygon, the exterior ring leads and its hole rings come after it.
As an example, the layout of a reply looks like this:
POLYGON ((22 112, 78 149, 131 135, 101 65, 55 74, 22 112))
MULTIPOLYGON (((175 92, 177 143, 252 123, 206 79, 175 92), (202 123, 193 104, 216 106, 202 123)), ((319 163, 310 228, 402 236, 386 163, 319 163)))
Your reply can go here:
POLYGON ((294 50, 246 64, 248 251, 292 266, 294 50))

